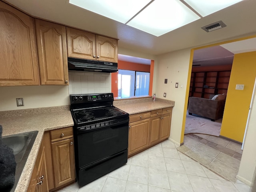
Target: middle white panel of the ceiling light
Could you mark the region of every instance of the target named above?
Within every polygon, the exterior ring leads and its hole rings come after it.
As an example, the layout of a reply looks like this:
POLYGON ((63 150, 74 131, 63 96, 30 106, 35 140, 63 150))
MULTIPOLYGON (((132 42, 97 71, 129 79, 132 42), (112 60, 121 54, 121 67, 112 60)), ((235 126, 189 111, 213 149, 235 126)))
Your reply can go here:
POLYGON ((199 18, 179 0, 155 0, 127 25, 161 36, 199 18))

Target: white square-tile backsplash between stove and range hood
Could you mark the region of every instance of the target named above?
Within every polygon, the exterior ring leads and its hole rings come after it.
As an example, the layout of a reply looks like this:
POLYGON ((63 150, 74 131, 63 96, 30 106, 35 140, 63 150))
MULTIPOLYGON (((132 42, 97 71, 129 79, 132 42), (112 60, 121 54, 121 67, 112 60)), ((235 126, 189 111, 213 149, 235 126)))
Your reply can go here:
POLYGON ((69 94, 111 92, 111 74, 93 72, 68 72, 69 94))

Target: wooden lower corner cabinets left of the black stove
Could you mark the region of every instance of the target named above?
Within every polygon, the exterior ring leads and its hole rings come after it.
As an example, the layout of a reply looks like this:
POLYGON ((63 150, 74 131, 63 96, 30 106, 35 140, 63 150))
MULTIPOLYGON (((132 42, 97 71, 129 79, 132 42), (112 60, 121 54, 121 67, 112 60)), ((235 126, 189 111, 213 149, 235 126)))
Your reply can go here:
POLYGON ((72 127, 44 133, 28 192, 52 192, 75 181, 73 143, 72 127))

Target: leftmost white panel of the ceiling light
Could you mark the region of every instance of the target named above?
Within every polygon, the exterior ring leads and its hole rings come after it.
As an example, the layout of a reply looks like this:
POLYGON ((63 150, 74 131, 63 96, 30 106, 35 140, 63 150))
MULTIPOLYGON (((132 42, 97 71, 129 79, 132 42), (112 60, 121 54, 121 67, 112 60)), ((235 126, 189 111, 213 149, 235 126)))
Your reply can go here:
POLYGON ((137 14, 150 0, 69 0, 69 3, 126 23, 137 14))

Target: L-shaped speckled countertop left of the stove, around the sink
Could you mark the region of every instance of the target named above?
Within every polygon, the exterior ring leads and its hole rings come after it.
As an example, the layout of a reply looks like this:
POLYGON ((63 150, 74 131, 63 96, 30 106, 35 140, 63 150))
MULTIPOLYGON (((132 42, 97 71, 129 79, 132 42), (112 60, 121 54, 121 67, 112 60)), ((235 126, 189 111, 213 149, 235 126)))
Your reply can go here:
POLYGON ((73 126, 69 106, 0 112, 2 136, 38 131, 15 192, 26 192, 44 131, 73 126))

